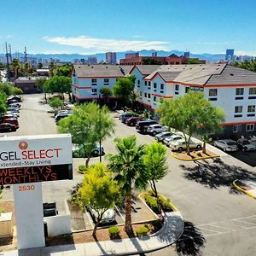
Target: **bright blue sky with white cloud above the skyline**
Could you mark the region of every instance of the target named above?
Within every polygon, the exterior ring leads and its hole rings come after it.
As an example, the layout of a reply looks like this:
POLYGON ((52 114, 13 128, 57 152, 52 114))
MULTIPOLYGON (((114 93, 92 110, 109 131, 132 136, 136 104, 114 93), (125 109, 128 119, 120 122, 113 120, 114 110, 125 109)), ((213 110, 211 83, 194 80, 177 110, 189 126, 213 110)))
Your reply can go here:
POLYGON ((0 52, 256 55, 255 0, 0 0, 0 52))

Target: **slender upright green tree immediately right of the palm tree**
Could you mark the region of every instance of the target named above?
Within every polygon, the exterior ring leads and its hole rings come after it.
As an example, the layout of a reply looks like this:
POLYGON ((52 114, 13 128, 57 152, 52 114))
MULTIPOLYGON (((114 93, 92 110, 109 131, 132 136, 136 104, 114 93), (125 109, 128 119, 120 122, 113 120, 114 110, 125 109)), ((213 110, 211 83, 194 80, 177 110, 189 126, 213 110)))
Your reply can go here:
POLYGON ((165 177, 168 172, 168 166, 166 164, 166 147, 161 143, 151 143, 146 147, 143 160, 148 169, 150 187, 154 192, 154 196, 158 199, 155 183, 165 177))

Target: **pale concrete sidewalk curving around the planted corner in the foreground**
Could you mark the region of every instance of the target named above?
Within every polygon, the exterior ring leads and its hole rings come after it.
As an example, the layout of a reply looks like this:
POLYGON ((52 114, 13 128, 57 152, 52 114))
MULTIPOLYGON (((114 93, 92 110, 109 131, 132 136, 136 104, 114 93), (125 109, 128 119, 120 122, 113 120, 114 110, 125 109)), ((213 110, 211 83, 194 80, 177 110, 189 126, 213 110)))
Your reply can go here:
POLYGON ((167 247, 183 234, 184 222, 179 212, 166 212, 164 225, 152 236, 141 239, 96 241, 57 247, 40 247, 0 253, 0 256, 95 256, 149 253, 167 247))

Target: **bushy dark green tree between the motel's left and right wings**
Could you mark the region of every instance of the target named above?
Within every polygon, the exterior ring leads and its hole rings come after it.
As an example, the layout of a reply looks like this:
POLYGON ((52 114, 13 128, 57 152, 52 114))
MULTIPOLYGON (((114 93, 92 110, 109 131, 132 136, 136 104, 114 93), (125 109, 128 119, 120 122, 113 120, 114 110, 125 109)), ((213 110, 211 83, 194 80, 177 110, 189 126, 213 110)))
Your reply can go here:
POLYGON ((113 95, 124 99, 125 105, 131 105, 134 83, 132 79, 118 79, 117 84, 113 86, 113 95))

